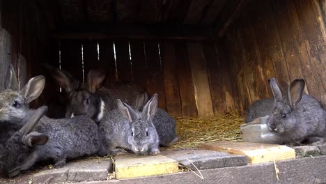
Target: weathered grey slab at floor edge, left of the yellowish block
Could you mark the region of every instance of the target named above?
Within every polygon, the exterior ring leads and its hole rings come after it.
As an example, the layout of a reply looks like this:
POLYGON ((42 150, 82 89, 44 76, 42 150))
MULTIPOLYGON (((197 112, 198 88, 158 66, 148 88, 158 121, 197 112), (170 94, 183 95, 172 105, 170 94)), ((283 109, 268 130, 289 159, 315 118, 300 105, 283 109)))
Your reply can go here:
POLYGON ((47 169, 33 176, 33 183, 62 183, 78 181, 103 181, 111 169, 106 159, 70 162, 59 169, 47 169))

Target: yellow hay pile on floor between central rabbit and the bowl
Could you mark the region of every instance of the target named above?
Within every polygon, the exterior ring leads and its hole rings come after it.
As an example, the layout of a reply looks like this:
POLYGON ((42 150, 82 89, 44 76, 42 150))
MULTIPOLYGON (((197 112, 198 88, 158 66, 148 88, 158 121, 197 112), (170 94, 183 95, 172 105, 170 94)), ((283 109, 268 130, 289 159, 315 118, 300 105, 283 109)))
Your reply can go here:
POLYGON ((244 117, 236 110, 205 118, 176 118, 179 140, 169 148, 194 148, 209 141, 242 141, 244 117))

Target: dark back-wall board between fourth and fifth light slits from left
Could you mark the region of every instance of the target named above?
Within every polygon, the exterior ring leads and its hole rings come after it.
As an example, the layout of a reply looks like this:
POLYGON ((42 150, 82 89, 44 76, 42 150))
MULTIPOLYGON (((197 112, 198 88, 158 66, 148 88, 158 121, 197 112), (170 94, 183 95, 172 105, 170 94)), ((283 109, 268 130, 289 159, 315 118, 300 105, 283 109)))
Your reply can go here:
POLYGON ((129 43, 125 40, 115 41, 116 67, 118 69, 118 81, 132 81, 132 66, 130 61, 129 43))

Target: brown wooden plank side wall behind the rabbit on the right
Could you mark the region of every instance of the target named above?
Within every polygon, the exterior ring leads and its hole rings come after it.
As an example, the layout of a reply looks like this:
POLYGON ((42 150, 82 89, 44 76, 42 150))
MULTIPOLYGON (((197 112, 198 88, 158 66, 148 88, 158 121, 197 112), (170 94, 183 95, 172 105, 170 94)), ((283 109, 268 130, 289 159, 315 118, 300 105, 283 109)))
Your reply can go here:
POLYGON ((240 110, 272 96, 268 79, 285 89, 295 78, 326 105, 325 1, 253 1, 225 38, 232 88, 240 110))

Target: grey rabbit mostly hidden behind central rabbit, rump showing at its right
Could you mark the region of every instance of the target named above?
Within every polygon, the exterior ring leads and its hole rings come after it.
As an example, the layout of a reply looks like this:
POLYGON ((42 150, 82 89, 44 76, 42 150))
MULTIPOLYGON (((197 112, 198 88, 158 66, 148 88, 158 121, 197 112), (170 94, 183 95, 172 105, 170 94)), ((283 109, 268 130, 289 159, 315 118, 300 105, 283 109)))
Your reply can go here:
MULTIPOLYGON (((143 105, 146 99, 148 99, 148 97, 144 96, 144 94, 137 96, 136 107, 140 108, 137 109, 137 111, 141 110, 141 105, 143 105)), ((160 146, 170 146, 178 140, 176 120, 170 116, 169 113, 164 111, 164 109, 157 107, 157 112, 153 117, 153 124, 160 139, 160 146)))

